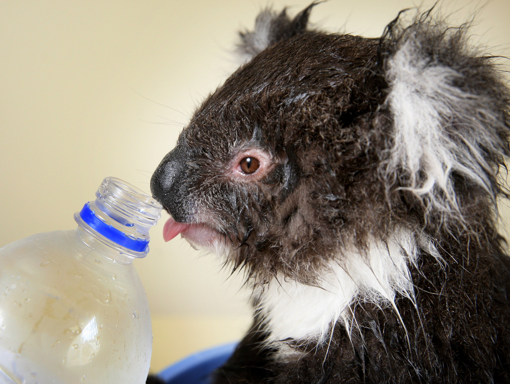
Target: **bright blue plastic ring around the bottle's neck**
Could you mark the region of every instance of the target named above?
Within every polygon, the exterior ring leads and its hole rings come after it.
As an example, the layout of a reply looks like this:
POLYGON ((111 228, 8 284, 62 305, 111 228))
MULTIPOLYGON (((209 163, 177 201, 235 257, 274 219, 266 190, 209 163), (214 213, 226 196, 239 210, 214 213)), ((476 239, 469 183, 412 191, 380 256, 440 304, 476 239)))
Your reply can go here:
POLYGON ((124 232, 119 231, 117 228, 106 224, 96 216, 95 212, 90 209, 89 203, 86 203, 80 211, 80 217, 97 233, 105 236, 107 239, 113 241, 124 248, 135 252, 145 252, 149 245, 149 240, 133 239, 127 236, 124 232))

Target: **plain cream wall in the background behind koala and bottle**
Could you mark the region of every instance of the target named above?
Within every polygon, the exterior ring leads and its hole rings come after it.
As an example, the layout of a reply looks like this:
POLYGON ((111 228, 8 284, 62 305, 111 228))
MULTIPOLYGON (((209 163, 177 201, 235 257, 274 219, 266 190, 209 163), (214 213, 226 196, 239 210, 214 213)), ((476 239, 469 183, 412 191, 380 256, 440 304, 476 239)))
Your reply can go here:
MULTIPOLYGON (((273 0, 289 13, 311 0, 273 0)), ((464 20, 477 1, 444 1, 464 20)), ((424 8, 431 2, 424 2, 424 8)), ((0 1, 0 245, 71 229, 106 176, 149 190, 149 179, 194 107, 235 69, 236 32, 266 1, 0 1)), ((330 0, 312 21, 379 36, 411 0, 330 0)), ((510 54, 509 0, 483 7, 474 31, 510 54)), ((164 215, 163 223, 167 216, 164 215)), ((151 231, 136 261, 154 320, 152 370, 241 337, 241 279, 180 239, 151 231)))

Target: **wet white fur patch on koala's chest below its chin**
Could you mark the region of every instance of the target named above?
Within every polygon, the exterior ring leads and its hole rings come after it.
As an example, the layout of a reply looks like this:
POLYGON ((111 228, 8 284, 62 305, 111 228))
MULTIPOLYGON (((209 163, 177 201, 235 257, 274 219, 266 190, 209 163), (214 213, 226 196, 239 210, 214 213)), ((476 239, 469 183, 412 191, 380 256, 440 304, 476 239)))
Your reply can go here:
MULTIPOLYGON (((430 243, 429 248, 433 248, 430 243)), ((399 292, 413 299, 409 266, 417 255, 413 236, 398 231, 387 242, 373 242, 366 254, 345 253, 331 262, 323 273, 320 286, 310 286, 274 278, 256 291, 258 311, 269 332, 267 342, 284 346, 285 340, 299 343, 328 340, 331 325, 337 321, 350 328, 350 304, 356 299, 394 305, 399 292)), ((288 348, 282 348, 282 351, 288 348)), ((288 353, 288 351, 283 351, 288 353)))

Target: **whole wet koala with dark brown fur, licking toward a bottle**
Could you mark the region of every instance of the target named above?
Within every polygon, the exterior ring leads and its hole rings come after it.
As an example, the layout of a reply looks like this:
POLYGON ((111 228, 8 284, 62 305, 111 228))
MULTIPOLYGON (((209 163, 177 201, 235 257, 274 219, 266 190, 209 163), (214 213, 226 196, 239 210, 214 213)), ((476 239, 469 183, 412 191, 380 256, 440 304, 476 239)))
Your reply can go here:
POLYGON ((310 28, 315 5, 241 33, 151 179, 165 240, 252 291, 213 382, 510 382, 503 71, 435 12, 363 38, 310 28))

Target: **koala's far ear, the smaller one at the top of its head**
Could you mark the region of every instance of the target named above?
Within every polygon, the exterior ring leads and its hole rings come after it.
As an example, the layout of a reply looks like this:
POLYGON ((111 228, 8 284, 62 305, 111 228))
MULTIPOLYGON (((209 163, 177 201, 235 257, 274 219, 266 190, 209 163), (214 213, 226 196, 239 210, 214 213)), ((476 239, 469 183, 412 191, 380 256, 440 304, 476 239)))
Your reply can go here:
POLYGON ((287 16, 286 9, 277 14, 270 8, 266 8, 257 16, 253 32, 239 33, 241 37, 241 42, 238 44, 239 53, 249 60, 268 46, 305 32, 310 12, 317 4, 317 2, 312 3, 292 20, 287 16))

